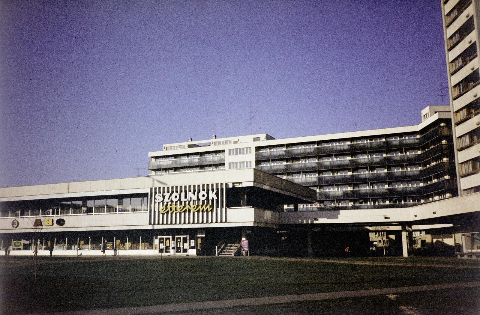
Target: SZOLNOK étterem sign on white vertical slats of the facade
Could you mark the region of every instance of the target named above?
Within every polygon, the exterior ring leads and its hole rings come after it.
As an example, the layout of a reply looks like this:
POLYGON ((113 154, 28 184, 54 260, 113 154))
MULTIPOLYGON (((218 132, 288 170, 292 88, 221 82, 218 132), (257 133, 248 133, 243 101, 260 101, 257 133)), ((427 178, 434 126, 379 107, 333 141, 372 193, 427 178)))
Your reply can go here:
POLYGON ((227 221, 225 184, 150 188, 150 224, 198 224, 227 221))

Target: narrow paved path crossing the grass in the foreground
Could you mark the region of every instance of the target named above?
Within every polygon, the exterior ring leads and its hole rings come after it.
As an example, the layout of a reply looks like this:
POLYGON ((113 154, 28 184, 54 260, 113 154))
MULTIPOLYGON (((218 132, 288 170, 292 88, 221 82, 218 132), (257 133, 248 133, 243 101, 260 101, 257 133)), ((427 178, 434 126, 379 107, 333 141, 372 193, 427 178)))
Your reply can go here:
POLYGON ((261 298, 235 299, 235 300, 223 300, 223 301, 192 302, 192 303, 164 304, 164 305, 140 306, 140 307, 82 310, 82 311, 74 311, 74 312, 45 313, 42 315, 162 314, 162 313, 172 313, 172 312, 180 312, 180 311, 196 311, 196 310, 217 309, 217 308, 235 307, 235 306, 253 306, 253 305, 266 305, 266 304, 278 304, 278 303, 291 303, 291 302, 300 302, 300 301, 321 301, 321 300, 330 300, 330 299, 338 299, 338 298, 352 298, 352 297, 361 297, 361 296, 374 296, 374 295, 384 295, 384 294, 472 288, 472 287, 480 287, 480 281, 421 285, 421 286, 400 287, 400 288, 358 290, 358 291, 282 295, 282 296, 270 296, 270 297, 261 297, 261 298))

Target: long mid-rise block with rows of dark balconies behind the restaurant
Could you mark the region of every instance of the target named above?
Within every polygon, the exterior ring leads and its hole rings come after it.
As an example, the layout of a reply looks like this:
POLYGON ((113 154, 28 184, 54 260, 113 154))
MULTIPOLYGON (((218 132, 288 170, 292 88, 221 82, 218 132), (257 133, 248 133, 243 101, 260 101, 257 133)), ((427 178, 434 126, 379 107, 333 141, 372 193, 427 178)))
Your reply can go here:
POLYGON ((449 106, 428 106, 416 126, 279 140, 214 135, 149 156, 152 175, 254 167, 317 192, 317 202, 286 211, 404 208, 457 195, 449 106))

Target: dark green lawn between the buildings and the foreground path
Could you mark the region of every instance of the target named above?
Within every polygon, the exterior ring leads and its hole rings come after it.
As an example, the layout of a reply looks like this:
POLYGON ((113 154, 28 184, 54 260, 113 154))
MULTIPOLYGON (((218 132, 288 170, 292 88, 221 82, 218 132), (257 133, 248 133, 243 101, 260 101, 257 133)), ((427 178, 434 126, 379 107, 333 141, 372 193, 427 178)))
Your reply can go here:
POLYGON ((35 284, 31 257, 2 257, 4 311, 114 308, 480 280, 478 268, 230 257, 99 258, 39 257, 35 284))

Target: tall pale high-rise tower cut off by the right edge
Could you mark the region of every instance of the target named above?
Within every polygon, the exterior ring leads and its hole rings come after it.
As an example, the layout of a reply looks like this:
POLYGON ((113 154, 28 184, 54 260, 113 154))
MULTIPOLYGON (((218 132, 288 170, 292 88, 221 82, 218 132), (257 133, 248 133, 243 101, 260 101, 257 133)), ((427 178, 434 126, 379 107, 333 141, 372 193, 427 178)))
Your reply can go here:
POLYGON ((479 0, 441 0, 460 195, 480 191, 479 0))

